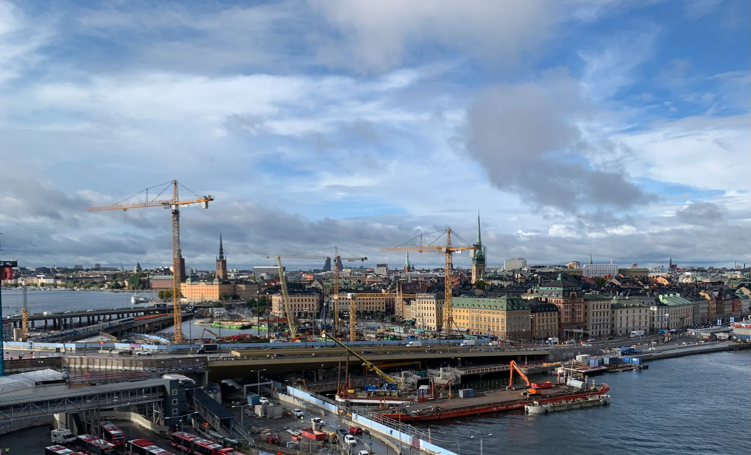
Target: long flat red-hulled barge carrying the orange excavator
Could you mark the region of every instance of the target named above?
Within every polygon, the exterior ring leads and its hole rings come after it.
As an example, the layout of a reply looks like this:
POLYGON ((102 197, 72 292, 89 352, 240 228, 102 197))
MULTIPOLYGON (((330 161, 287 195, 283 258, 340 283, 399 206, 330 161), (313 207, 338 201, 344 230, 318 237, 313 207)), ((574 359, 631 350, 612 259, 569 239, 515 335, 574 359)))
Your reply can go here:
POLYGON ((550 403, 564 399, 584 398, 585 396, 605 395, 610 387, 608 384, 590 385, 584 389, 556 384, 553 387, 540 390, 540 393, 529 394, 523 390, 501 390, 478 394, 472 398, 434 399, 430 402, 416 402, 409 405, 408 411, 380 413, 382 417, 401 421, 441 420, 467 415, 487 414, 489 412, 512 411, 524 409, 524 405, 532 402, 550 403), (518 398, 520 393, 525 396, 518 398))

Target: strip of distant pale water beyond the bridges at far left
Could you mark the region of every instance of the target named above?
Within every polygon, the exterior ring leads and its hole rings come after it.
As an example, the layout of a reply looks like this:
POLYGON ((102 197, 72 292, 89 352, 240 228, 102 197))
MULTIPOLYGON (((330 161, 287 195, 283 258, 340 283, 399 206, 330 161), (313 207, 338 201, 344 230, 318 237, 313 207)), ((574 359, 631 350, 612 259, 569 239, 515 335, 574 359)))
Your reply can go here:
MULTIPOLYGON (((138 291, 140 297, 155 299, 155 291, 138 291)), ((29 312, 74 312, 86 311, 87 309, 110 309, 125 308, 132 306, 131 296, 133 292, 114 291, 64 291, 29 289, 26 291, 26 301, 29 312)), ((141 303, 139 306, 144 306, 141 303)), ((20 315, 23 307, 22 291, 17 288, 2 289, 2 314, 20 315)))

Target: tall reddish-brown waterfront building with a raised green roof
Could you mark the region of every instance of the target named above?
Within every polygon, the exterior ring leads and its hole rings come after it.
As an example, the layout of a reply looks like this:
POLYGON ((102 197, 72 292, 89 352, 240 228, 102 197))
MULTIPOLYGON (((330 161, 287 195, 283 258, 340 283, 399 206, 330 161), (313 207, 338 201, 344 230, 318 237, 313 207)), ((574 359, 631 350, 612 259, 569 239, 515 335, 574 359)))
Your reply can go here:
POLYGON ((539 300, 558 306, 558 333, 560 336, 572 336, 572 330, 583 330, 584 298, 581 286, 566 281, 561 273, 558 279, 538 287, 539 300))

